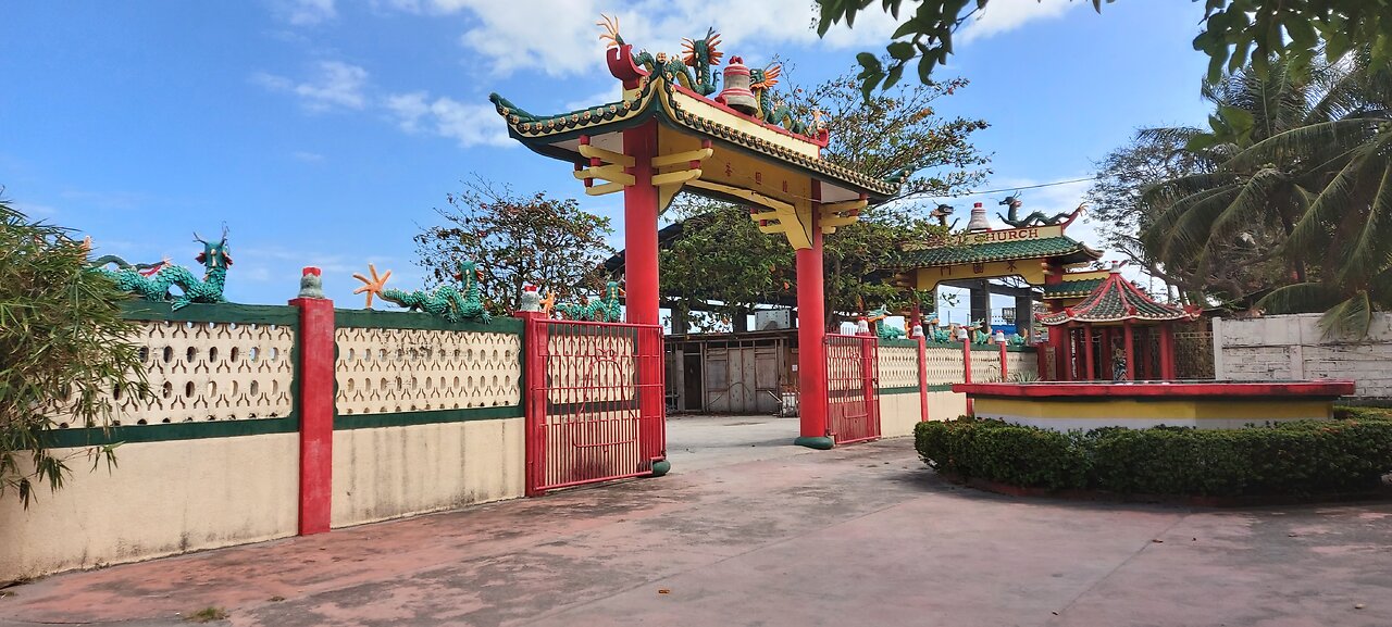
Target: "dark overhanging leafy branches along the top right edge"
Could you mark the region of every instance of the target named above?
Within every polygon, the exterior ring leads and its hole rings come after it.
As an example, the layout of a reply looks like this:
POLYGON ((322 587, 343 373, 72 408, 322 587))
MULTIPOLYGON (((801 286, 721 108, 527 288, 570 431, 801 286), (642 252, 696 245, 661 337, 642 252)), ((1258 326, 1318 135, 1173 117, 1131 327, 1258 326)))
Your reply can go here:
MULTIPOLYGON (((1102 0, 1082 1, 1102 11, 1102 0)), ((871 4, 902 19, 885 47, 888 61, 873 53, 856 56, 862 68, 856 78, 870 97, 877 86, 896 85, 913 61, 919 81, 928 82, 937 65, 947 65, 954 33, 977 11, 988 10, 990 0, 817 0, 817 4, 821 7, 817 33, 823 36, 842 21, 846 28, 855 26, 856 15, 871 4)), ((1386 67, 1392 57, 1392 13, 1384 1, 1207 0, 1203 24, 1194 50, 1208 54, 1211 81, 1225 68, 1235 71, 1249 61, 1258 75, 1265 74, 1271 57, 1303 68, 1321 47, 1328 61, 1357 49, 1371 50, 1370 61, 1378 67, 1386 67)))

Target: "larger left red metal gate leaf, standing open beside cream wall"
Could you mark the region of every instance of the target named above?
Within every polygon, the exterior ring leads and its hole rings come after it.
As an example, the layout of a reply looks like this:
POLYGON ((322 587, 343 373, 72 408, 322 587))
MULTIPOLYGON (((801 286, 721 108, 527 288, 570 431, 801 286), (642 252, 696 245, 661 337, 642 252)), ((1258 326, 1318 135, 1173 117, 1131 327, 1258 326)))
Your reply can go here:
POLYGON ((532 318, 526 345, 529 496, 667 457, 661 327, 532 318))

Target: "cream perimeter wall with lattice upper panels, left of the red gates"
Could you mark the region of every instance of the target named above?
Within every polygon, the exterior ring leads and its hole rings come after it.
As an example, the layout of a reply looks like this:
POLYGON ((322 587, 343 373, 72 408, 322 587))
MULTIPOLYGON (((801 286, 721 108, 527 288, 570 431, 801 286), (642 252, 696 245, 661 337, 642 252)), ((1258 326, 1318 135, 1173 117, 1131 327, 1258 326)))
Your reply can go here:
POLYGON ((111 398, 104 430, 54 416, 72 475, 28 510, 0 498, 0 583, 312 532, 316 507, 327 530, 525 492, 521 320, 334 311, 331 453, 306 462, 298 307, 139 302, 127 317, 152 393, 111 398), (113 443, 117 467, 90 471, 113 443), (302 485, 302 463, 327 485, 302 485))

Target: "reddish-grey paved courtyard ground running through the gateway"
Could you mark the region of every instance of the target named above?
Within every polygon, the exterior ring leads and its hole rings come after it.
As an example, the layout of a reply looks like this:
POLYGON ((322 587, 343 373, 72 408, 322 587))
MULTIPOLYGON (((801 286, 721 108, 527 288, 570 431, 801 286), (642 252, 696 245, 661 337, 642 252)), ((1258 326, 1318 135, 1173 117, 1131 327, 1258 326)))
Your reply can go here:
POLYGON ((1022 500, 795 432, 678 418, 660 480, 49 577, 0 624, 1392 624, 1392 503, 1022 500))

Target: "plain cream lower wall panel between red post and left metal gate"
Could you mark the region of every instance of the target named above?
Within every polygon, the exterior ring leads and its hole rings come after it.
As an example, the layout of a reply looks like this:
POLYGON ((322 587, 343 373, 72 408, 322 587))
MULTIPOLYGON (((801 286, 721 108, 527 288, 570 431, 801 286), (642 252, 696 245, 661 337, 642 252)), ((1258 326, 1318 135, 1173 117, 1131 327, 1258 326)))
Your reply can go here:
POLYGON ((523 418, 334 431, 333 527, 523 495, 523 418))

